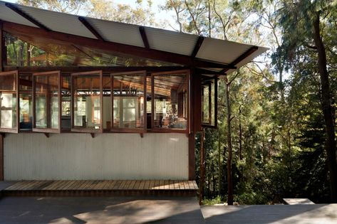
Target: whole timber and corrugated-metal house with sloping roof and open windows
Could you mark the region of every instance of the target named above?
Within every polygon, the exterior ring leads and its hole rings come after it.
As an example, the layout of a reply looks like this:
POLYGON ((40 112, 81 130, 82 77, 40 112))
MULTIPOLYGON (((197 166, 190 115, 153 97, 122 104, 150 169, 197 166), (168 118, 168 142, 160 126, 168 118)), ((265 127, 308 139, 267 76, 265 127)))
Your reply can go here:
POLYGON ((0 1, 0 180, 194 180, 217 78, 266 48, 0 1))

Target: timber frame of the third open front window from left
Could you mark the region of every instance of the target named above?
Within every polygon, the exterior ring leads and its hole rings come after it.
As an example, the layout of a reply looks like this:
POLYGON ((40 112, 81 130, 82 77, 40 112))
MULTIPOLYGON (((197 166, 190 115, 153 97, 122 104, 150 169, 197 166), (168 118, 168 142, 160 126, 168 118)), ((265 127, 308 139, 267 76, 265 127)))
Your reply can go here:
MULTIPOLYGON (((90 85, 93 85, 92 80, 90 81, 90 85)), ((94 102, 93 102, 94 103, 94 102)), ((93 104, 93 107, 91 108, 95 110, 95 105, 93 104)), ((93 111, 94 112, 94 111, 93 111)), ((93 113, 94 114, 94 113, 93 113)), ((85 115, 86 116, 86 115, 85 115)), ((92 115, 92 118, 94 115, 92 115)), ((94 124, 95 121, 93 121, 94 124)), ((71 132, 84 132, 84 133, 103 133, 103 72, 102 70, 96 70, 96 71, 90 71, 90 72, 83 72, 83 73, 71 73, 71 132), (100 102, 100 124, 99 128, 95 127, 81 127, 75 125, 75 98, 76 97, 76 78, 99 78, 99 95, 94 95, 93 87, 90 86, 88 89, 90 94, 88 96, 90 97, 98 97, 100 102)))

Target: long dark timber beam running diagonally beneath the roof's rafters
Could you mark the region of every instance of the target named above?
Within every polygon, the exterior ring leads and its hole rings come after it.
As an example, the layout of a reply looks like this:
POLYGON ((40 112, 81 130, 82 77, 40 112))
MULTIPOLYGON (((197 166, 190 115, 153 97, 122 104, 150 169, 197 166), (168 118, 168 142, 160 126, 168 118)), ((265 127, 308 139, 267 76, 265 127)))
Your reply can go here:
POLYGON ((130 46, 123 43, 115 43, 110 41, 102 41, 100 39, 87 38, 83 36, 76 36, 68 33, 61 33, 56 31, 47 32, 41 28, 35 28, 32 26, 21 25, 18 23, 11 23, 4 21, 4 31, 21 35, 31 33, 34 36, 41 38, 53 39, 56 41, 63 41, 70 44, 88 46, 90 48, 98 48, 101 50, 108 50, 115 53, 123 53, 126 55, 134 55, 140 58, 149 58, 152 60, 162 60, 168 63, 175 63, 180 65, 195 66, 199 68, 228 68, 235 69, 234 65, 226 65, 222 63, 216 63, 208 60, 202 60, 200 58, 191 58, 190 55, 181 55, 177 53, 170 53, 162 50, 146 49, 138 46, 130 46))

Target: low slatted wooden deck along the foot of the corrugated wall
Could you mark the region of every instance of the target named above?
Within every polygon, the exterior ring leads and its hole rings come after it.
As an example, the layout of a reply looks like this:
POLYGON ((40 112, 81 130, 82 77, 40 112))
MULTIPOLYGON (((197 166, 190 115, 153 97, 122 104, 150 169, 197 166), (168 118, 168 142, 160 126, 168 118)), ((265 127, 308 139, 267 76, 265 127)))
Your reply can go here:
POLYGON ((5 196, 195 196, 195 181, 18 181, 4 188, 5 196))

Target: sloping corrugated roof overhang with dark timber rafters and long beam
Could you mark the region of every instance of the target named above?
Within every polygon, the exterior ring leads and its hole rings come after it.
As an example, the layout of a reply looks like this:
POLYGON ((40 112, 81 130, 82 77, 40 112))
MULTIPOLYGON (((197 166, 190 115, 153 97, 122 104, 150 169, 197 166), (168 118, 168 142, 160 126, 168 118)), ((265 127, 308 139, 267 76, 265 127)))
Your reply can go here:
POLYGON ((204 70, 232 73, 267 48, 159 28, 63 14, 0 1, 4 31, 31 32, 81 44, 204 70))

